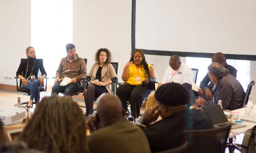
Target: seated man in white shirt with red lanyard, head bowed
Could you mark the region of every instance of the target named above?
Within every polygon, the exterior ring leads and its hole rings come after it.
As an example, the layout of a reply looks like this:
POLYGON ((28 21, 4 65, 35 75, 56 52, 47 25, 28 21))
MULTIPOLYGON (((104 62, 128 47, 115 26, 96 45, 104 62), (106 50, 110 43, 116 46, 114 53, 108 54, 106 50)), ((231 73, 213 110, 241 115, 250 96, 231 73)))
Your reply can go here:
MULTIPOLYGON (((175 82, 179 84, 189 83, 193 81, 193 72, 190 67, 180 60, 180 57, 177 55, 172 55, 169 59, 169 65, 165 71, 162 84, 175 82)), ((149 107, 154 107, 156 104, 155 92, 148 96, 146 109, 149 107)))

